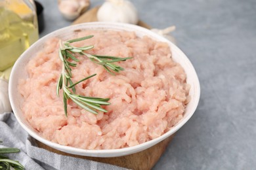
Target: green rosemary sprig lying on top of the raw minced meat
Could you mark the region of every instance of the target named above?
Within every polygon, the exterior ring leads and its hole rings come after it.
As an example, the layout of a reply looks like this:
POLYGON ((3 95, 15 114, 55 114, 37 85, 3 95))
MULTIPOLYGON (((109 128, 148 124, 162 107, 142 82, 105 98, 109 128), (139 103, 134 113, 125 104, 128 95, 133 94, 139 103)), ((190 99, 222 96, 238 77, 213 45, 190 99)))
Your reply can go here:
POLYGON ((62 61, 62 73, 60 75, 60 78, 58 78, 58 83, 56 87, 56 93, 59 97, 59 91, 63 88, 63 103, 64 103, 64 112, 65 115, 68 116, 68 99, 71 99, 79 105, 79 107, 92 112, 94 114, 97 114, 98 111, 107 112, 106 109, 102 108, 102 105, 110 105, 108 102, 109 99, 104 98, 98 98, 98 97, 86 97, 83 95, 77 95, 75 94, 75 85, 79 84, 80 82, 83 82, 84 80, 87 80, 89 78, 92 78, 94 75, 87 76, 78 82, 72 81, 72 67, 76 67, 77 63, 79 62, 79 59, 75 58, 75 54, 80 54, 81 56, 85 56, 89 58, 91 61, 93 61, 96 64, 102 65, 108 73, 115 75, 115 73, 119 73, 119 71, 123 71, 123 68, 119 65, 114 64, 114 62, 119 61, 126 61, 127 59, 131 58, 118 58, 114 56, 99 56, 94 54, 89 54, 85 52, 86 50, 90 50, 94 48, 94 46, 82 46, 82 47, 76 47, 72 46, 72 42, 77 41, 83 41, 86 39, 91 39, 93 35, 89 35, 87 37, 81 37, 79 39, 72 39, 66 42, 60 41, 60 49, 58 52, 58 55, 60 57, 60 60, 62 61))

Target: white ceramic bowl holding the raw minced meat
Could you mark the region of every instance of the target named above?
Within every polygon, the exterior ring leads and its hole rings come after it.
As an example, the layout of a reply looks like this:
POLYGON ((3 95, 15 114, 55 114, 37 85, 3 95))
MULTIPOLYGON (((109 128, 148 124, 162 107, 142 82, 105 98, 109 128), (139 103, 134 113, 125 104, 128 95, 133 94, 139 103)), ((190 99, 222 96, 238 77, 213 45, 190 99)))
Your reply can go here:
POLYGON ((51 146, 52 148, 55 148, 57 150, 61 150, 63 152, 67 152, 75 155, 94 156, 94 157, 116 157, 116 156, 125 156, 128 154, 133 154, 135 152, 145 150, 146 148, 150 148, 151 146, 157 143, 160 143, 160 141, 163 141, 167 137, 173 135, 173 133, 175 133, 178 129, 180 129, 190 119, 192 114, 194 114, 194 111, 198 106, 198 102, 200 99, 200 83, 198 80, 198 76, 196 75, 196 71, 192 63, 190 63, 189 59, 186 57, 186 55, 177 46, 175 46, 175 44, 173 44, 170 41, 167 41, 167 39, 161 37, 160 35, 157 35, 156 33, 153 33, 152 31, 145 29, 143 27, 139 27, 137 25, 91 22, 87 24, 72 25, 72 26, 64 27, 62 29, 58 29, 57 31, 54 31, 53 33, 50 33, 49 35, 46 35, 45 37, 39 39, 39 41, 35 42, 32 46, 30 46, 30 48, 28 48, 28 50, 26 50, 26 52, 24 52, 14 64, 11 77, 9 80, 9 96, 11 100, 12 110, 18 122, 20 123, 20 125, 33 138, 37 139, 41 143, 47 144, 48 146, 51 146), (23 116, 22 110, 20 109, 22 96, 18 92, 18 88, 17 88, 18 80, 20 78, 28 77, 28 73, 26 73, 26 69, 24 68, 26 67, 26 64, 28 63, 30 58, 35 56, 34 54, 43 47, 43 44, 45 41, 47 41, 51 37, 60 37, 62 39, 72 39, 72 37, 70 36, 72 35, 72 32, 77 29, 82 29, 82 30, 83 29, 112 29, 117 31, 123 31, 123 30, 135 31, 139 37, 147 35, 148 37, 151 37, 156 41, 167 42, 171 48, 172 58, 176 62, 182 65, 187 75, 187 79, 186 79, 187 83, 190 84, 191 86, 190 93, 189 93, 191 97, 191 101, 186 106, 186 110, 184 112, 184 118, 170 131, 161 135, 161 137, 158 137, 156 139, 153 139, 152 141, 148 141, 146 143, 142 143, 137 146, 132 146, 128 148, 120 148, 120 149, 112 149, 112 150, 84 150, 81 148, 62 146, 60 144, 47 141, 46 139, 41 137, 39 133, 35 131, 35 129, 33 129, 30 126, 30 124, 28 124, 28 122, 23 116))

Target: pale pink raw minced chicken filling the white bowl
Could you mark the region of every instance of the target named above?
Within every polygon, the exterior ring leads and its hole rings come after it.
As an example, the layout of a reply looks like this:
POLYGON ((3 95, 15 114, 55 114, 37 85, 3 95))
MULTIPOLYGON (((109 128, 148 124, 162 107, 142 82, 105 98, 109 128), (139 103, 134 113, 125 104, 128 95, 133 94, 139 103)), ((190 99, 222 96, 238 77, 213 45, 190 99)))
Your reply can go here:
POLYGON ((125 148, 160 137, 181 119, 189 101, 190 86, 170 47, 132 31, 77 31, 73 38, 94 35, 74 46, 94 45, 90 54, 133 57, 118 65, 125 70, 111 75, 101 65, 77 55, 72 68, 76 93, 110 98, 108 112, 93 114, 68 101, 64 114, 56 84, 62 70, 58 57, 59 39, 47 41, 26 65, 29 77, 19 80, 22 111, 29 124, 49 141, 89 150, 125 148))

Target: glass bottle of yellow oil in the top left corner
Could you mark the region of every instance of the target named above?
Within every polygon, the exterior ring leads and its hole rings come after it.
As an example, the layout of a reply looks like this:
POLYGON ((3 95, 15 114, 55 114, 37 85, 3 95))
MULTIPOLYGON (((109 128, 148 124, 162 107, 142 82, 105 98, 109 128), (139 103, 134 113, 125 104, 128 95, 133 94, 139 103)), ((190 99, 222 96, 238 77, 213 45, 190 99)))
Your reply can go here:
POLYGON ((39 38, 33 7, 20 0, 0 3, 0 76, 7 79, 16 59, 39 38))

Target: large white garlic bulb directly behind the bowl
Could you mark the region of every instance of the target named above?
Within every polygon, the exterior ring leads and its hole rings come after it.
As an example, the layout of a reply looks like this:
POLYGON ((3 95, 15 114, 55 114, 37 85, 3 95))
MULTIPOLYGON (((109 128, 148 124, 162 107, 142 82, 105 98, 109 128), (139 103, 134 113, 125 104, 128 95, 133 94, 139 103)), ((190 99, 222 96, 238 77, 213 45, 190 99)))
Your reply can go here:
POLYGON ((137 24, 137 9, 127 0, 106 0, 97 12, 100 22, 123 22, 137 24))

